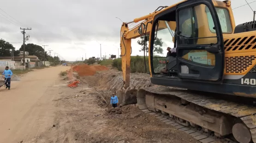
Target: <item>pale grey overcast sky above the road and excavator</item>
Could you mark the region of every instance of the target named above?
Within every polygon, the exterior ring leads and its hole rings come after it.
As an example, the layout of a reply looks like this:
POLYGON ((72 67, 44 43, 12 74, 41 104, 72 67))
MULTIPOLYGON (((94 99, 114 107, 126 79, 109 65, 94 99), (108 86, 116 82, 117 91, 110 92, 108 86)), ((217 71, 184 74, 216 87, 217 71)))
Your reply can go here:
MULTIPOLYGON (((85 53, 87 58, 100 56, 98 42, 104 40, 102 55, 118 55, 122 22, 115 17, 129 22, 158 6, 171 6, 178 1, 181 0, 0 0, 0 38, 19 49, 22 43, 17 42, 23 40, 20 27, 31 27, 26 31, 30 35, 27 43, 47 44, 46 50, 54 50, 52 54, 58 53, 66 60, 84 58, 85 53)), ((245 4, 245 0, 232 0, 232 8, 245 4)), ((250 6, 256 10, 256 2, 250 6)), ((248 5, 234 9, 233 13, 236 25, 253 20, 248 5)), ((143 55, 137 40, 132 40, 132 55, 143 55)))

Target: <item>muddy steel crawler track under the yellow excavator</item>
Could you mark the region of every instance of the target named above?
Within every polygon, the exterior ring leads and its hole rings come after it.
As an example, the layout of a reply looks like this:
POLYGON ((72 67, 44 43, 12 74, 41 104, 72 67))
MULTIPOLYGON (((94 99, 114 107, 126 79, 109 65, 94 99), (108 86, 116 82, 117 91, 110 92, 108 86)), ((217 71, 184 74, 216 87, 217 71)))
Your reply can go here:
POLYGON ((140 110, 202 143, 256 143, 256 107, 169 87, 140 88, 140 110))

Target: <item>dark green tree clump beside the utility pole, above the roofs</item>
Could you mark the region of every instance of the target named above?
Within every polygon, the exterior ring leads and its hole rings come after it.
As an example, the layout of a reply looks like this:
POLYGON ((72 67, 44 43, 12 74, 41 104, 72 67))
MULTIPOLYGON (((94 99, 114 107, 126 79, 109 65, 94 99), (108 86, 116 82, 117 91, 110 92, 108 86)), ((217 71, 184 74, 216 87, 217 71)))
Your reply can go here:
MULTIPOLYGON (((20 49, 23 51, 23 45, 21 45, 20 49)), ((36 45, 36 44, 25 44, 25 51, 29 52, 29 55, 36 55, 39 60, 44 60, 44 49, 42 46, 36 45)), ((45 54, 45 60, 48 60, 49 56, 46 52, 45 54)))

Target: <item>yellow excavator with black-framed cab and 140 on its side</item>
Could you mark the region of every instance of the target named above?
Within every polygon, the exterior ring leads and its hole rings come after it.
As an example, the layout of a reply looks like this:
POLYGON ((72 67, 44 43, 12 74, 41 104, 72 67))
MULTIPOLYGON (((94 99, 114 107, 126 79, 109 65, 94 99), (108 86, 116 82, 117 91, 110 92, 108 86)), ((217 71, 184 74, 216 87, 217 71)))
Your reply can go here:
POLYGON ((130 89, 131 39, 141 36, 149 41, 156 85, 138 90, 141 110, 229 143, 256 143, 256 21, 236 26, 230 0, 184 0, 132 22, 123 22, 120 33, 124 88, 130 89), (157 54, 157 38, 166 48, 174 44, 176 56, 157 54))

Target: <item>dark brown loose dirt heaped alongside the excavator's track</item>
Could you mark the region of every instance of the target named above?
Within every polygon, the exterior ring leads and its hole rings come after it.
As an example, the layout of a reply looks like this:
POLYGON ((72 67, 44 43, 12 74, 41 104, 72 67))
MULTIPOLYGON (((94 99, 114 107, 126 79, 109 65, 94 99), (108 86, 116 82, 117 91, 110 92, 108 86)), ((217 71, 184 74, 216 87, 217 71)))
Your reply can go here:
POLYGON ((116 135, 123 135, 122 140, 130 143, 199 143, 190 135, 179 132, 154 115, 143 113, 137 107, 127 105, 121 110, 122 114, 106 114, 107 125, 118 131, 116 135))

